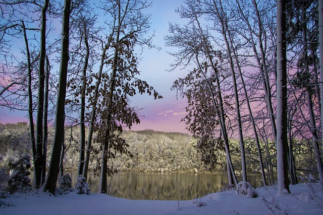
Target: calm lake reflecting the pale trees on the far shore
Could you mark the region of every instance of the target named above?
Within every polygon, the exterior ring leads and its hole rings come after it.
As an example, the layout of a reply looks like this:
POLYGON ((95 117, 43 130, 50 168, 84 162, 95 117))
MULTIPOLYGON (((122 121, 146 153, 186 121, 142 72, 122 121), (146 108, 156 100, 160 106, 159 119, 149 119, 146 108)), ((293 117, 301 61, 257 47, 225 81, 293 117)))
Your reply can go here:
MULTIPOLYGON (((72 177, 72 185, 77 180, 77 172, 65 173, 72 177)), ((249 177, 256 180, 259 177, 249 177)), ((228 184, 228 178, 221 173, 151 173, 151 172, 119 172, 111 180, 109 194, 127 199, 149 200, 189 200, 217 192, 228 184)), ((89 175, 91 193, 97 193, 99 177, 89 175)), ((258 186, 257 181, 250 181, 258 186)))

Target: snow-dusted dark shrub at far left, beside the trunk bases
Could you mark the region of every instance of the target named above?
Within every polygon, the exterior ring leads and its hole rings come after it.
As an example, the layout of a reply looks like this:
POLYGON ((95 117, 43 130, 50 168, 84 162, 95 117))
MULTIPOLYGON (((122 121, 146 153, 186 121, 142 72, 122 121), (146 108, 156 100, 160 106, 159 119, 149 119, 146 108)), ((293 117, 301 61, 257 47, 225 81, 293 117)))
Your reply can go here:
POLYGON ((28 169, 31 167, 30 157, 24 154, 18 161, 8 164, 11 169, 10 179, 8 181, 8 191, 14 192, 27 192, 31 190, 30 172, 28 169))

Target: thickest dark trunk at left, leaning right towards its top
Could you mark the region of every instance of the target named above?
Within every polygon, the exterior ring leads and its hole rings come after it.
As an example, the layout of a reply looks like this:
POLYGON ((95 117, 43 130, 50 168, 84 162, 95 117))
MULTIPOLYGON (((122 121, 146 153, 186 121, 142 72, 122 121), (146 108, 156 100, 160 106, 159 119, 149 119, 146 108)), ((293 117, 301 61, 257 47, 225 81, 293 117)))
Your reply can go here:
POLYGON ((55 193, 57 176, 59 173, 60 157, 62 150, 62 143, 64 140, 64 109, 66 96, 66 81, 67 68, 69 62, 69 30, 70 30, 70 13, 71 0, 64 1, 64 12, 62 22, 62 51, 61 51, 61 65, 60 65, 60 80, 59 92, 56 105, 56 119, 55 119, 55 136, 52 146, 52 153, 50 158, 49 170, 46 177, 43 191, 55 193))

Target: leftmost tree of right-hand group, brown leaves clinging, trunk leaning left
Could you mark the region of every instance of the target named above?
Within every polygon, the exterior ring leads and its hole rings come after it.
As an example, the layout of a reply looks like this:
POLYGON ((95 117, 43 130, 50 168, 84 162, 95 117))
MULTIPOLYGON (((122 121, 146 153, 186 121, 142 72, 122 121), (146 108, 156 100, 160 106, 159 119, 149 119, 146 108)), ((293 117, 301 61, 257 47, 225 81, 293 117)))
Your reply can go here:
MULTIPOLYGON (((191 70, 185 79, 176 80, 172 88, 173 90, 179 91, 189 100, 188 107, 186 108, 188 115, 183 120, 186 121, 188 129, 192 133, 200 136, 200 147, 208 145, 208 142, 212 141, 211 139, 213 139, 215 135, 213 124, 215 122, 212 123, 212 121, 206 120, 208 123, 205 123, 205 118, 203 118, 204 114, 201 114, 200 112, 203 111, 204 113, 205 111, 205 117, 209 119, 214 117, 211 116, 212 113, 217 116, 216 121, 220 124, 222 134, 221 138, 224 140, 224 147, 226 150, 229 184, 233 184, 232 177, 235 184, 237 184, 237 178, 231 162, 229 138, 225 119, 226 113, 224 111, 224 102, 222 98, 223 93, 221 92, 220 85, 220 77, 223 76, 223 74, 220 75, 220 71, 217 66, 217 59, 214 59, 215 56, 211 53, 213 52, 212 47, 207 40, 209 35, 206 31, 203 32, 201 28, 195 26, 198 24, 198 13, 193 8, 193 5, 193 2, 189 2, 186 5, 187 7, 183 6, 178 11, 182 17, 190 18, 190 25, 180 27, 176 24, 170 24, 169 32, 171 35, 167 35, 165 39, 167 46, 175 46, 180 49, 178 52, 171 53, 171 55, 176 57, 176 63, 172 65, 173 69, 178 66, 184 66, 185 68, 190 63, 194 63, 197 68, 191 70), (200 59, 201 57, 204 57, 204 59, 200 59), (200 62, 200 60, 203 61, 200 62), (212 76, 210 77, 206 74, 209 70, 212 71, 212 76), (213 82, 216 82, 216 90, 214 90, 213 82), (207 93, 205 93, 205 95, 199 94, 198 92, 200 92, 200 90, 198 86, 205 89, 207 93), (194 92, 194 90, 196 90, 196 92, 194 92), (206 104, 201 104, 202 101, 197 97, 209 97, 209 102, 212 104, 213 111, 210 111, 206 104), (199 105, 194 103, 196 101, 199 105), (204 126, 209 127, 206 128, 204 126)), ((221 55, 220 53, 221 52, 219 52, 219 55, 221 55)))

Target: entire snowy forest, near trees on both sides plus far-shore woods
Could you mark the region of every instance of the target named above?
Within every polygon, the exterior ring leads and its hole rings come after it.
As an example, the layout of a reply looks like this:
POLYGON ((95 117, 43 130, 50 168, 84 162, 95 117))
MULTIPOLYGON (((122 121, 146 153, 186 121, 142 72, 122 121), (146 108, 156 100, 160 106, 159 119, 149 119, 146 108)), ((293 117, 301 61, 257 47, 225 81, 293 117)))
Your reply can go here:
POLYGON ((163 98, 138 70, 145 48, 160 49, 145 14, 152 4, 0 3, 0 105, 25 111, 29 120, 1 125, 2 138, 10 126, 25 126, 21 140, 2 139, 6 149, 20 150, 9 166, 32 166, 34 188, 52 194, 68 165, 85 183, 92 169, 99 193, 119 170, 158 168, 221 169, 230 186, 238 185, 237 173, 247 182, 259 172, 264 186, 278 183, 279 193, 298 183, 298 171, 323 184, 322 1, 185 0, 174 8, 186 24, 169 22, 164 39, 175 50, 170 71, 186 72, 172 90, 187 100, 182 122, 192 138, 129 131, 140 123, 140 108, 131 106, 136 94, 163 98), (173 156, 175 147, 187 154, 173 156))

